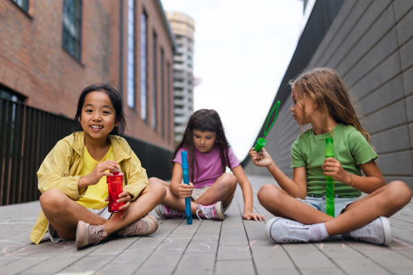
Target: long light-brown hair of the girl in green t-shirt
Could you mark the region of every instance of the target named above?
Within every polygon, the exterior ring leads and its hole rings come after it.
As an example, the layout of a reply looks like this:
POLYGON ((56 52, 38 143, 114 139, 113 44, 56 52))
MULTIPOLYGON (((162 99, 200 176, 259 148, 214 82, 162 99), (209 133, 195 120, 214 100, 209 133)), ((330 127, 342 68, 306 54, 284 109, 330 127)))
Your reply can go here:
MULTIPOLYGON (((311 100, 315 100, 317 108, 320 108, 323 112, 323 126, 332 131, 331 136, 334 130, 328 126, 328 115, 331 115, 337 123, 354 126, 357 131, 366 137, 366 140, 370 144, 370 135, 366 129, 361 126, 361 118, 357 115, 354 104, 352 103, 350 88, 337 72, 329 68, 306 69, 301 72, 297 78, 290 80, 289 83, 291 88, 295 88, 297 92, 296 98, 297 102, 299 102, 299 108, 303 111, 304 122, 306 121, 306 112, 304 111, 305 94, 311 100)), ((312 126, 313 124, 310 124, 306 130, 312 126)), ((303 127, 304 124, 300 129, 301 136, 303 127)))

